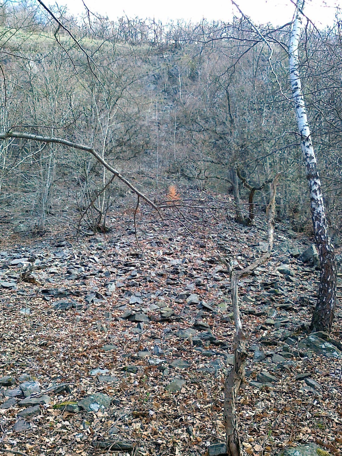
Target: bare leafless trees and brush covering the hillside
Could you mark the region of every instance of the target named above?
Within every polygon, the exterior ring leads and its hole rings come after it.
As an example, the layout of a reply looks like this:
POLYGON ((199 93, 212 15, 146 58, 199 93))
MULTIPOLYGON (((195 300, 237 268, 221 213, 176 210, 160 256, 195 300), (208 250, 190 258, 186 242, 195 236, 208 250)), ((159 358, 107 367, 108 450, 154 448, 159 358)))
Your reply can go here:
MULTIPOLYGON (((269 47, 244 19, 161 24, 53 12, 65 28, 35 2, 0 6, 3 132, 91 146, 145 192, 175 181, 227 193, 238 168, 251 187, 262 187, 254 201, 264 208, 269 182, 283 172, 278 216, 311 233, 290 103, 290 25, 260 28, 273 48, 270 67, 269 47)), ((317 31, 308 22, 300 48, 311 137, 335 232, 342 191, 340 33, 339 23, 317 31)), ((76 220, 89 204, 90 219, 112 207, 128 189, 109 183, 111 177, 82 150, 25 139, 0 144, 2 210, 41 229, 56 218, 70 220, 70 213, 76 220)), ((249 190, 242 181, 240 191, 244 203, 249 190)))

